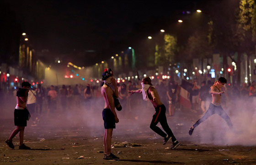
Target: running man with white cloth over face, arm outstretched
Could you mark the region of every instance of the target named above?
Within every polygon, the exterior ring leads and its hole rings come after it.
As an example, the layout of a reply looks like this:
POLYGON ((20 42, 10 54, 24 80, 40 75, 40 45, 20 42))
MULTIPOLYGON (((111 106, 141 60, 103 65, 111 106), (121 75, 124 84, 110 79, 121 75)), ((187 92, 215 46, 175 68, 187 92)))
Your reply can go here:
POLYGON ((159 134, 164 138, 164 145, 167 144, 170 140, 172 141, 173 147, 172 149, 176 149, 180 143, 175 138, 174 134, 171 131, 171 128, 168 126, 167 119, 165 116, 166 108, 165 105, 161 102, 160 96, 157 93, 155 87, 151 84, 151 79, 149 77, 145 77, 141 81, 142 89, 139 90, 129 90, 128 92, 133 93, 142 93, 144 101, 150 101, 155 107, 155 114, 153 115, 153 119, 150 124, 150 128, 155 131, 155 133, 159 134), (157 127, 157 123, 160 122, 162 128, 165 130, 163 132, 159 127, 157 127))

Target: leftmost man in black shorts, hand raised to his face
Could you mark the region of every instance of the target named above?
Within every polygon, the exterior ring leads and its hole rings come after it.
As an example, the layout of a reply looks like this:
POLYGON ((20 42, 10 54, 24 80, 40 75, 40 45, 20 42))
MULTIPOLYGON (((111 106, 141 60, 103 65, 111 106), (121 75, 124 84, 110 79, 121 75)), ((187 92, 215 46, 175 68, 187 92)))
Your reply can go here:
POLYGON ((20 132, 20 146, 19 149, 30 149, 23 143, 24 138, 24 129, 27 127, 27 120, 30 117, 30 114, 27 110, 27 96, 28 91, 31 85, 24 81, 21 84, 22 88, 19 88, 17 91, 17 105, 14 110, 14 124, 17 126, 11 133, 11 136, 5 141, 5 143, 11 148, 14 149, 14 145, 12 143, 12 139, 16 136, 17 133, 20 132))

